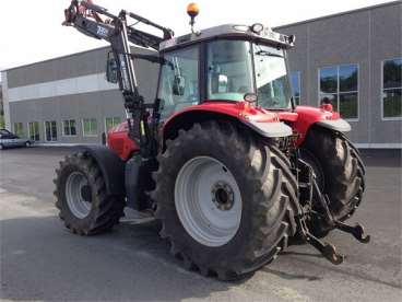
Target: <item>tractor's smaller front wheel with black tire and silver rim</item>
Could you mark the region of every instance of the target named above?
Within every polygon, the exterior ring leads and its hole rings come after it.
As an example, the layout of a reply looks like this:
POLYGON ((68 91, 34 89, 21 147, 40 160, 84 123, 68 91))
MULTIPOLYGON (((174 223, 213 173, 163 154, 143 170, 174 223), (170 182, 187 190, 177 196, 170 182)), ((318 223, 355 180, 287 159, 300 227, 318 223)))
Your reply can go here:
POLYGON ((123 198, 106 194, 99 167, 85 153, 67 155, 56 170, 54 183, 59 217, 75 234, 109 231, 123 214, 123 198))

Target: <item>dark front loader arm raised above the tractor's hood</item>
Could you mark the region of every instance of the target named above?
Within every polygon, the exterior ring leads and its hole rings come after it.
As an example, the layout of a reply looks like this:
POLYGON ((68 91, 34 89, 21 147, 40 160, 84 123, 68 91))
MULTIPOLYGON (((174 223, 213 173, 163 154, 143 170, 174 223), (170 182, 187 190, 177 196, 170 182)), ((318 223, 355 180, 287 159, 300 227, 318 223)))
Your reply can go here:
MULTIPOLYGON (((73 26, 90 37, 104 39, 110 44, 116 61, 119 89, 125 100, 129 136, 141 147, 144 153, 151 152, 150 149, 152 148, 150 146, 152 142, 147 126, 146 106, 139 93, 133 66, 134 58, 149 58, 131 54, 130 43, 157 50, 161 42, 173 37, 173 31, 125 10, 118 15, 114 15, 106 9, 95 5, 92 0, 72 0, 70 7, 64 10, 64 15, 63 25, 73 26), (128 25, 127 18, 137 21, 135 24, 144 23, 161 30, 163 37, 139 31, 133 25, 128 25), (133 123, 135 125, 132 125, 133 123)), ((157 56, 151 58, 150 61, 161 62, 157 56)))

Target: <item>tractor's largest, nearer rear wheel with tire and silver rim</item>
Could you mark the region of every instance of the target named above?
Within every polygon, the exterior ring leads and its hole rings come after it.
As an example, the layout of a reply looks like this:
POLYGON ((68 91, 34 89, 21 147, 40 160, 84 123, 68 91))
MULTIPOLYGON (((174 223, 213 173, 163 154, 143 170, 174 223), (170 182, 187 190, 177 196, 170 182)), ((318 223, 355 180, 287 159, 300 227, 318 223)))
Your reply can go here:
POLYGON ((156 218, 188 269, 238 279, 274 259, 296 232, 297 183, 273 144, 228 123, 180 130, 158 156, 156 218))

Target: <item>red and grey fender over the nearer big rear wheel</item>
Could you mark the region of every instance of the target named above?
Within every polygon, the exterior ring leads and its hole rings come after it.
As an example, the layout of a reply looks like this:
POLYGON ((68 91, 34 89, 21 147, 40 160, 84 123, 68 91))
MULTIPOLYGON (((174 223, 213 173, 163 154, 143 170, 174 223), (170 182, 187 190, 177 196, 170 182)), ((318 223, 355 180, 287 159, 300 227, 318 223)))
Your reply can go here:
MULTIPOLYGON (((240 103, 243 104, 243 103, 240 103)), ((164 123, 163 141, 174 139, 179 129, 190 129, 196 123, 228 120, 244 125, 264 138, 288 137, 292 128, 280 121, 277 115, 259 108, 244 108, 239 103, 206 102, 181 111, 164 123)))

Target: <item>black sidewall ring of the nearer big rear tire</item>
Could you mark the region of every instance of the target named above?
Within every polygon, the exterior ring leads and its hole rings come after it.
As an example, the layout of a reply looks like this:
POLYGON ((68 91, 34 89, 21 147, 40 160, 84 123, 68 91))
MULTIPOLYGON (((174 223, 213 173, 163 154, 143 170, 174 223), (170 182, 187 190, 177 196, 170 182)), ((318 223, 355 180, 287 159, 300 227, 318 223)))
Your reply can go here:
MULTIPOLYGON (((255 195, 255 187, 250 184, 250 181, 246 177, 245 167, 238 164, 238 159, 233 156, 233 148, 235 146, 230 144, 229 141, 226 147, 223 147, 221 143, 216 143, 211 147, 211 140, 204 140, 200 137, 192 140, 187 146, 182 146, 180 153, 174 153, 169 159, 172 164, 169 167, 169 174, 165 175, 164 184, 167 191, 165 191, 166 196, 166 204, 168 204, 168 216, 169 220, 165 221, 165 223, 169 223, 168 228, 175 231, 175 241, 176 244, 180 245, 180 249, 185 253, 190 253, 187 246, 192 246, 190 255, 193 259, 199 259, 202 264, 208 264, 209 266, 216 267, 221 264, 225 264, 227 258, 230 259, 232 266, 235 264, 233 263, 236 259, 237 255, 241 255, 248 253, 249 251, 245 251, 247 247, 246 242, 250 240, 250 236, 255 233, 253 225, 252 225, 252 216, 256 213, 256 209, 253 208, 253 202, 249 202, 248 200, 252 198, 255 195), (197 240, 192 239, 186 229, 182 226, 180 219, 177 214, 176 207, 175 207, 175 181, 180 169, 191 159, 197 156, 210 156, 213 159, 218 160, 222 164, 224 164, 228 171, 232 173, 241 195, 241 221, 240 225, 237 230, 237 233, 233 239, 229 240, 226 244, 216 247, 205 246, 199 243, 197 240)), ((210 194, 210 193, 205 193, 210 194)), ((167 205, 166 205, 167 206, 167 205)))

